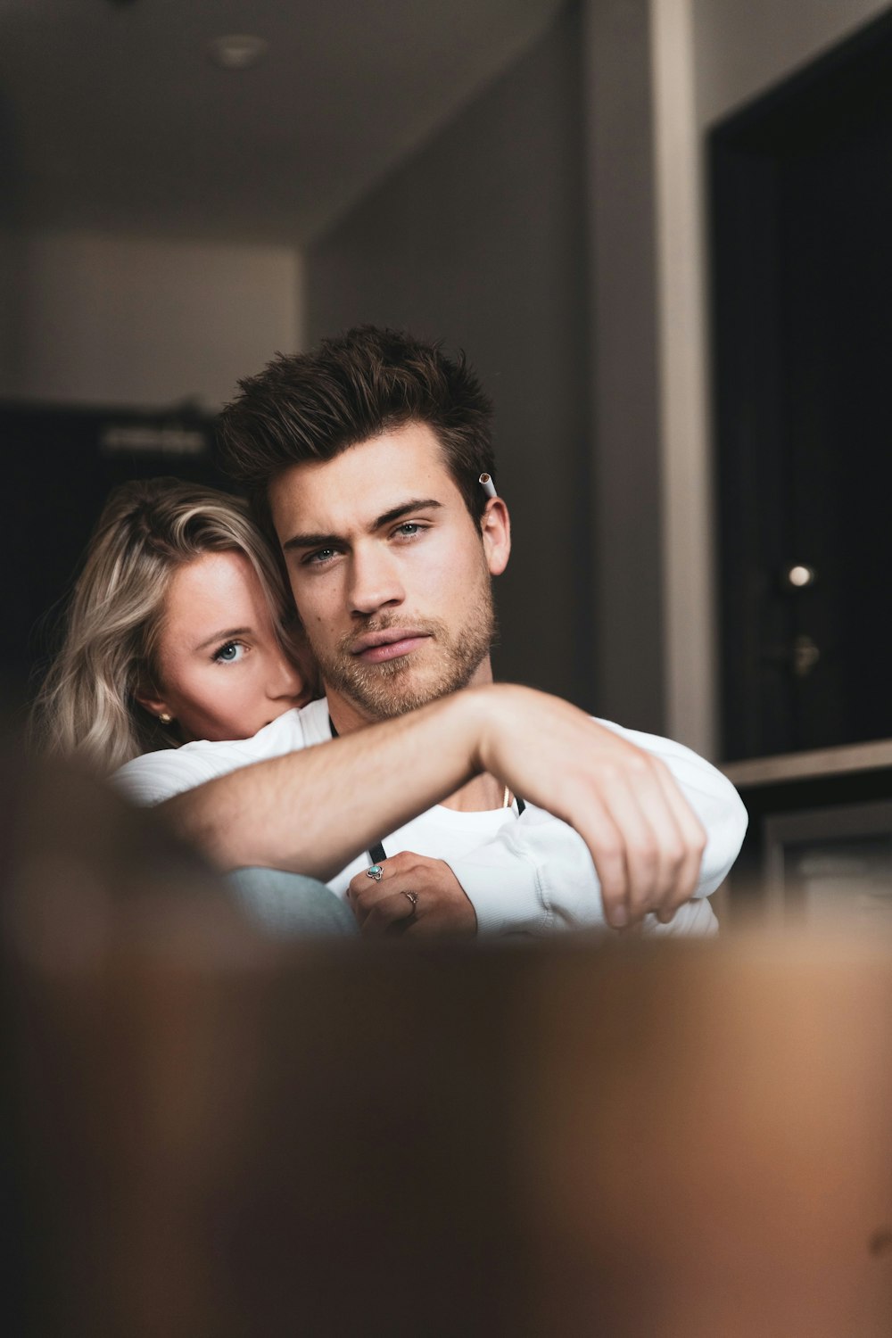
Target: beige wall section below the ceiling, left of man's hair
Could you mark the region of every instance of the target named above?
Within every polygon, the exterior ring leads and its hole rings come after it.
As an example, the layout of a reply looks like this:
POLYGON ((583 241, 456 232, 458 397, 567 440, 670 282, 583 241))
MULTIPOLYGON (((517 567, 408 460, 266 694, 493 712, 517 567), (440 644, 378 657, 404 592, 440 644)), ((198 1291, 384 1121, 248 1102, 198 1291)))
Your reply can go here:
POLYGON ((217 408, 301 328, 301 260, 284 246, 7 237, 0 395, 217 408))

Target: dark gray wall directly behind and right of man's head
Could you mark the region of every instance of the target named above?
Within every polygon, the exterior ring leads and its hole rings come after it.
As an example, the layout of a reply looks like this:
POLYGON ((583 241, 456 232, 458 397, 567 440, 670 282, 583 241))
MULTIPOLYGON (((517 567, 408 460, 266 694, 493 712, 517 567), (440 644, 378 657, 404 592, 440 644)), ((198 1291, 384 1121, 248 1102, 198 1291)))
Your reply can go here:
POLYGON ((514 554, 496 674, 594 709, 579 23, 546 37, 306 253, 306 333, 464 348, 496 401, 514 554))

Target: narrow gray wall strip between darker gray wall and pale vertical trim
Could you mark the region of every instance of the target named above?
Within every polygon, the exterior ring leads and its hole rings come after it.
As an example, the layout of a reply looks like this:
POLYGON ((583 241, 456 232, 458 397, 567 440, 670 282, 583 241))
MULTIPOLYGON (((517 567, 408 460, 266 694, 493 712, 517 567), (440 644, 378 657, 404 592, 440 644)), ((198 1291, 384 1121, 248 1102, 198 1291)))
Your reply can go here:
POLYGON ((667 731, 651 0, 587 0, 582 31, 594 359, 599 713, 667 731))

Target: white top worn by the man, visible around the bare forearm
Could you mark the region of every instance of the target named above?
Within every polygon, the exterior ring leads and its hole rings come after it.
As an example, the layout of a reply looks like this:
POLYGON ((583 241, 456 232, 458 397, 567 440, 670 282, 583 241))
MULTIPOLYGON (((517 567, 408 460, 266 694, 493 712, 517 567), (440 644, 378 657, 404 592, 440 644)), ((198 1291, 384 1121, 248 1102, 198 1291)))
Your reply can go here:
MULTIPOLYGON (((649 915, 645 929, 657 934, 713 933, 715 917, 703 898, 723 880, 746 831, 746 809, 737 791, 682 744, 623 729, 608 720, 598 723, 662 759, 707 834, 694 898, 670 925, 649 915)), ((328 702, 322 698, 286 712, 253 739, 183 744, 135 757, 115 773, 114 783, 136 804, 159 804, 239 767, 330 737, 328 702)), ((467 814, 437 804, 382 836, 381 844, 388 855, 412 851, 448 863, 473 904, 481 934, 543 934, 606 925, 600 884, 586 843, 572 827, 535 804, 527 803, 520 818, 516 808, 467 814)), ((329 887, 344 899, 350 879, 368 864, 368 855, 358 855, 329 887)))

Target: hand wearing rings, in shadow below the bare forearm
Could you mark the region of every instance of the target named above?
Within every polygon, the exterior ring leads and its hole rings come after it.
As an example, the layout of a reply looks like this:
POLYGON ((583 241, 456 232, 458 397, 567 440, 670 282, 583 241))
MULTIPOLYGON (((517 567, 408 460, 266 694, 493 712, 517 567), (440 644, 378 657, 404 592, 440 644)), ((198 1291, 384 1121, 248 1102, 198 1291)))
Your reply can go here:
POLYGON ((364 935, 469 938, 476 934, 473 906, 441 859, 403 851, 385 859, 380 867, 378 882, 362 870, 350 880, 346 892, 364 935))

